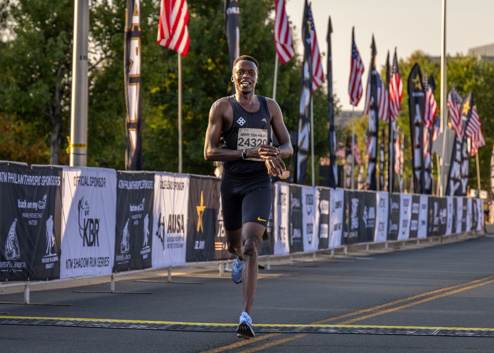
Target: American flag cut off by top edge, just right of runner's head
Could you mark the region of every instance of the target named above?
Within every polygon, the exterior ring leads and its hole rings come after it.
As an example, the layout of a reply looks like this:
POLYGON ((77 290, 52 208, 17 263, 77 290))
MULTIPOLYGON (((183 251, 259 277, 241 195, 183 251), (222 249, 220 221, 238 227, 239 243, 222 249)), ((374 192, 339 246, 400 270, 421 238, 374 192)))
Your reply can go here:
POLYGON ((274 46, 278 59, 284 64, 294 55, 292 32, 285 11, 285 0, 275 0, 274 11, 274 46))

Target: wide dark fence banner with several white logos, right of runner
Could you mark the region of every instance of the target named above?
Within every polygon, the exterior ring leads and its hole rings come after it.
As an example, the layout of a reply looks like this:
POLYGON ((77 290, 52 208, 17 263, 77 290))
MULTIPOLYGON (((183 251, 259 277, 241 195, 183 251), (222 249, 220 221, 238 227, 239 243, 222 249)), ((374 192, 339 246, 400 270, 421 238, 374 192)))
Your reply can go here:
POLYGON ((342 243, 371 242, 376 222, 376 196, 374 192, 345 191, 344 226, 342 243))

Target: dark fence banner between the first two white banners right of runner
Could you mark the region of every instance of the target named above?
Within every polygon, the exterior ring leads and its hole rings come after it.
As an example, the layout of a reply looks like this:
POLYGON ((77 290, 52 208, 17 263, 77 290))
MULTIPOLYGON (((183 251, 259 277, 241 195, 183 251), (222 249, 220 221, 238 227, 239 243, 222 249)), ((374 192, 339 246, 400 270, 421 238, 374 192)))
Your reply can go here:
POLYGON ((290 253, 304 251, 304 223, 302 219, 302 187, 298 185, 289 185, 290 189, 290 210, 288 220, 290 226, 288 234, 290 237, 290 253))

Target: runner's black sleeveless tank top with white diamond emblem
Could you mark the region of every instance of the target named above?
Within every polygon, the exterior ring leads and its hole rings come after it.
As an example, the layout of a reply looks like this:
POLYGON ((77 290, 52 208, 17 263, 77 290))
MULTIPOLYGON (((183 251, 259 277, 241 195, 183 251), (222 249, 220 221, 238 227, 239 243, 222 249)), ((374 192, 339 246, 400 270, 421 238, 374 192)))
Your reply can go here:
MULTIPOLYGON (((259 98, 259 110, 257 112, 248 112, 240 103, 237 102, 234 95, 228 97, 231 108, 233 109, 233 121, 231 128, 222 132, 224 144, 222 148, 228 149, 249 149, 260 144, 271 143, 271 114, 269 114, 266 97, 259 98)), ((236 160, 223 162, 223 168, 231 173, 256 173, 266 171, 264 161, 236 160)))

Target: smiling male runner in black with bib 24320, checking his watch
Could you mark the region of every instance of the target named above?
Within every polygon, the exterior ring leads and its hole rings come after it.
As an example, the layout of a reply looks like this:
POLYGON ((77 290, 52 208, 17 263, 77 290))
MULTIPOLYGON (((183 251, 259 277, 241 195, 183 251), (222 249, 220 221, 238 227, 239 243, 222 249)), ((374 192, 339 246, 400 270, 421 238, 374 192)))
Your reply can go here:
POLYGON ((237 337, 254 337, 250 318, 258 276, 259 242, 271 211, 269 174, 286 170, 282 158, 293 153, 278 104, 254 94, 259 64, 242 55, 233 62, 235 95, 213 103, 204 144, 206 161, 223 162, 221 181, 223 224, 228 251, 237 256, 233 282, 242 283, 242 314, 237 337), (271 146, 271 127, 278 148, 271 146), (220 146, 221 142, 221 146, 220 146))

